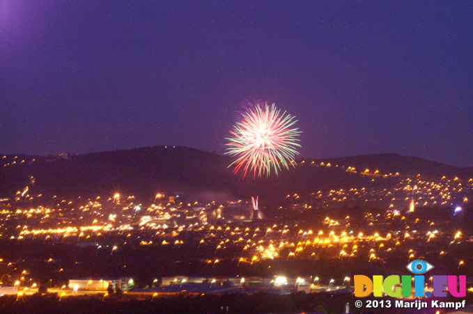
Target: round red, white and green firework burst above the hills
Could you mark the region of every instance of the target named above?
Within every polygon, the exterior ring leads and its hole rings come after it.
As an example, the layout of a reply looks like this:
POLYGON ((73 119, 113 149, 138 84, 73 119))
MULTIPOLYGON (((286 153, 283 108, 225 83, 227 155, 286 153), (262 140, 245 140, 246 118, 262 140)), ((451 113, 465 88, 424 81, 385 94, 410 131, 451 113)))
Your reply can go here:
POLYGON ((248 102, 244 107, 246 111, 240 113, 226 143, 226 155, 236 157, 229 166, 234 166, 233 173, 241 170, 245 178, 252 172, 256 178, 272 171, 277 175, 282 167, 289 168, 300 147, 296 136, 301 132, 292 127, 297 120, 267 102, 248 102))

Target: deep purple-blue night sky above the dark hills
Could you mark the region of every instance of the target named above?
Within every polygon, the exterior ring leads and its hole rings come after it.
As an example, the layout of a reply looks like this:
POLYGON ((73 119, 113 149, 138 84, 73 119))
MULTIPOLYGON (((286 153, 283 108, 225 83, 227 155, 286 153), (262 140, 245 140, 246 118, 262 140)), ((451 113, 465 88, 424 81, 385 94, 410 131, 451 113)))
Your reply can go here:
POLYGON ((302 157, 473 166, 473 3, 0 0, 0 153, 223 153, 245 100, 302 157))

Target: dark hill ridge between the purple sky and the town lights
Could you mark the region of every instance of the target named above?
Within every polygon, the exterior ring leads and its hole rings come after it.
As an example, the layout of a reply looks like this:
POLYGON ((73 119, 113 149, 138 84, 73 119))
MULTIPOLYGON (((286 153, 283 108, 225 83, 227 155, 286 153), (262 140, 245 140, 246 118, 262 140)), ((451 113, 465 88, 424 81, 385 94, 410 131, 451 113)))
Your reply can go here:
POLYGON ((300 159, 295 161, 295 168, 282 171, 279 177, 242 179, 228 168, 231 158, 181 146, 54 157, 6 155, 0 162, 0 196, 12 196, 28 185, 29 193, 45 196, 93 197, 119 191, 144 199, 153 198, 158 192, 171 192, 209 194, 212 198, 259 195, 276 200, 286 194, 318 190, 388 187, 406 175, 462 180, 473 177, 473 168, 456 168, 398 154, 378 154, 300 159), (355 171, 347 171, 348 167, 354 167, 355 171), (366 175, 365 169, 369 169, 366 175), (386 176, 389 173, 392 175, 386 176))

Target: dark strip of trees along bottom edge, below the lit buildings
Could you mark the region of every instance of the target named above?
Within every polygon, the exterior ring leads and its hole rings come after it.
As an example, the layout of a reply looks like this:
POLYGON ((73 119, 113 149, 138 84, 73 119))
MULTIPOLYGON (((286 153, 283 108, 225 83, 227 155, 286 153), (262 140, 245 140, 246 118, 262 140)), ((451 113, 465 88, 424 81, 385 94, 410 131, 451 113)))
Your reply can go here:
MULTIPOLYGON (((377 298, 379 299, 379 298, 377 298)), ((453 298, 454 299, 454 298, 453 298)), ((458 300, 450 300, 458 301, 458 300)), ((152 295, 123 294, 63 296, 47 293, 45 295, 8 295, 0 297, 0 314, 245 314, 245 313, 345 313, 346 303, 350 313, 393 313, 392 309, 357 309, 353 306, 355 298, 342 293, 297 292, 290 295, 274 295, 266 292, 246 295, 233 293, 224 295, 172 295, 154 297, 152 295), (391 310, 391 311, 389 311, 391 310)), ((472 297, 467 297, 467 304, 472 297)), ((397 308, 396 313, 403 314, 397 308)))

